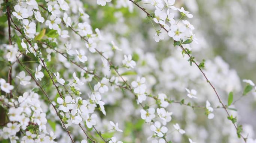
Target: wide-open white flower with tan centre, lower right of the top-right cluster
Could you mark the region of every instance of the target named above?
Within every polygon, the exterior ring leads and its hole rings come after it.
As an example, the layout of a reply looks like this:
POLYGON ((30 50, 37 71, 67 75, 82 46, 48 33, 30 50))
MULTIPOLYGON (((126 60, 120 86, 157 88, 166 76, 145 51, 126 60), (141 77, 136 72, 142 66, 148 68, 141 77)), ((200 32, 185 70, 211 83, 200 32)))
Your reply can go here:
POLYGON ((171 25, 170 31, 168 32, 168 35, 173 38, 175 41, 180 41, 180 39, 183 38, 183 32, 185 32, 186 27, 177 25, 171 25))

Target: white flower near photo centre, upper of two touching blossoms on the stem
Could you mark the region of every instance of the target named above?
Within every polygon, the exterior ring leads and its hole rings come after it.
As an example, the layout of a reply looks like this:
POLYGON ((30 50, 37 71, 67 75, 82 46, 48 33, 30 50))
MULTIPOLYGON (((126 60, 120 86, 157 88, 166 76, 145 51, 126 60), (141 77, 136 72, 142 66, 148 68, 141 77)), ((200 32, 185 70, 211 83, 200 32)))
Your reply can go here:
POLYGON ((134 88, 135 93, 145 93, 147 86, 144 84, 146 82, 145 77, 137 77, 136 81, 131 83, 131 86, 134 88))

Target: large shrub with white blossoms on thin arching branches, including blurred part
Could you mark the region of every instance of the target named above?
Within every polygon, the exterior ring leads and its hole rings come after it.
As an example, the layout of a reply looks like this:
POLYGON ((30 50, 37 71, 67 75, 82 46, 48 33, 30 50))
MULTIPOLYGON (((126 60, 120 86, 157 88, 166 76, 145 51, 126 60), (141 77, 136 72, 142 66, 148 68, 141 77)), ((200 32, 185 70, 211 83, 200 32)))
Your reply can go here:
POLYGON ((1 140, 255 143, 235 107, 255 84, 241 89, 219 56, 198 62, 193 14, 176 2, 0 1, 1 140))

